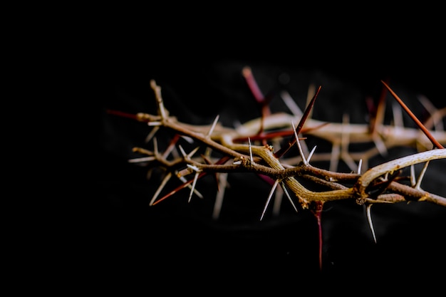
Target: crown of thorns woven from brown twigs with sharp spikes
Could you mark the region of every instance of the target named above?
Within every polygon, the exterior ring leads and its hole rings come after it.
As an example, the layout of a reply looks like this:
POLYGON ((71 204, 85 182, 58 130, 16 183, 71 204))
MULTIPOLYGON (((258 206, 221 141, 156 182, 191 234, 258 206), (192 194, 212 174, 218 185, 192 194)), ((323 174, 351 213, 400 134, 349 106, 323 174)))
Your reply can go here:
POLYGON ((423 105, 430 112, 430 118, 425 123, 421 123, 388 83, 381 80, 383 92, 376 112, 368 125, 348 123, 347 115, 344 116, 343 123, 328 123, 311 118, 311 110, 321 86, 317 89, 311 86, 308 89, 307 106, 304 112, 299 109, 289 93, 284 91, 281 93, 281 98, 291 110, 291 114, 271 113, 268 101, 257 85, 251 68, 243 68, 242 74, 256 102, 261 106, 262 112, 261 118, 250 120, 236 128, 220 125, 218 115, 212 125, 208 126, 181 123, 169 115, 162 100, 161 88, 155 80, 150 81, 150 86, 157 102, 156 115, 147 113, 133 115, 109 110, 109 113, 133 118, 152 127, 146 142, 152 141, 153 150, 134 147, 133 152, 138 152, 144 157, 129 160, 133 163, 147 164, 151 168, 162 167, 166 172, 150 200, 150 206, 162 202, 185 188, 190 189, 188 201, 194 194, 203 198, 197 190, 197 182, 205 175, 212 174, 217 180, 217 196, 212 216, 217 219, 222 207, 224 190, 227 187, 227 174, 252 172, 259 174, 262 179, 271 184, 260 219, 264 218, 274 194, 276 194, 276 199, 279 199, 279 195, 281 197, 285 194, 296 212, 299 208, 310 209, 318 219, 319 228, 321 228, 321 211, 325 202, 355 199, 358 204, 367 207, 367 219, 375 239, 370 216, 370 207, 373 204, 424 201, 446 207, 445 197, 427 192, 420 187, 429 163, 432 160, 446 158, 446 149, 442 146, 446 143, 446 132, 442 127, 442 118, 446 115, 446 108, 438 110, 426 98, 422 98, 423 105), (410 115, 418 129, 404 127, 401 117, 396 116, 398 110, 395 108, 393 125, 383 125, 387 92, 410 115), (155 137, 161 127, 176 133, 164 152, 158 150, 157 137, 155 137), (332 144, 331 153, 315 153, 316 147, 309 151, 304 141, 306 138, 302 135, 313 135, 328 140, 332 144), (197 147, 191 152, 185 152, 183 147, 177 144, 180 138, 197 143, 197 147), (349 152, 348 147, 353 142, 372 142, 374 145, 365 152, 349 152), (299 156, 286 157, 286 153, 294 145, 299 150, 299 156), (384 155, 390 147, 404 145, 416 145, 418 152, 367 169, 370 157, 377 154, 384 155), (199 157, 195 157, 200 146, 206 147, 206 151, 199 157), (280 148, 274 150, 274 147, 280 148), (214 157, 212 152, 218 152, 219 157, 214 157), (330 168, 324 170, 314 167, 310 164, 311 160, 329 160, 330 168), (351 172, 336 172, 338 160, 345 162, 351 172), (423 165, 418 178, 415 177, 414 169, 417 164, 423 165), (365 167, 365 170, 362 170, 362 167, 365 167), (405 167, 410 167, 409 177, 400 176, 405 167), (192 177, 187 179, 190 175, 192 177), (162 190, 172 177, 180 179, 182 184, 160 197, 162 190), (327 190, 311 191, 306 189, 299 179, 322 185, 327 190), (404 180, 409 180, 409 184, 403 182, 404 180), (298 202, 297 207, 295 202, 298 202))

